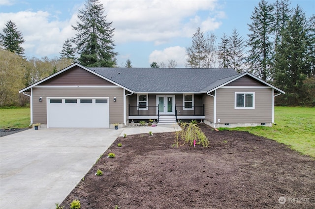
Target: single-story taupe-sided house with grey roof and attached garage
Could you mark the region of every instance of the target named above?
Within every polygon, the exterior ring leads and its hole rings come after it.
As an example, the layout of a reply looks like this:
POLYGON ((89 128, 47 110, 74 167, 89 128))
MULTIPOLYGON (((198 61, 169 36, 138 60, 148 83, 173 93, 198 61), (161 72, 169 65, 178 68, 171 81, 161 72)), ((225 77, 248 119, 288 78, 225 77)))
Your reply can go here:
POLYGON ((212 127, 272 126, 281 89, 233 69, 87 68, 72 64, 22 90, 31 123, 112 128, 131 121, 203 121, 212 127))

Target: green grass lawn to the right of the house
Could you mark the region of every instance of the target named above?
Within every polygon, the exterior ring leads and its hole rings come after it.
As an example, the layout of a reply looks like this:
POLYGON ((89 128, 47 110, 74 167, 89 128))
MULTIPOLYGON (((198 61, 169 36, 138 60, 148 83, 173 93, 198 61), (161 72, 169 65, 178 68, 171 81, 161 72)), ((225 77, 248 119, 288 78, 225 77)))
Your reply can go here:
MULTIPOLYGON (((304 155, 315 157, 315 107, 275 107, 273 127, 247 127, 229 130, 249 131, 289 145, 304 155)), ((223 129, 221 129, 223 130, 223 129)))

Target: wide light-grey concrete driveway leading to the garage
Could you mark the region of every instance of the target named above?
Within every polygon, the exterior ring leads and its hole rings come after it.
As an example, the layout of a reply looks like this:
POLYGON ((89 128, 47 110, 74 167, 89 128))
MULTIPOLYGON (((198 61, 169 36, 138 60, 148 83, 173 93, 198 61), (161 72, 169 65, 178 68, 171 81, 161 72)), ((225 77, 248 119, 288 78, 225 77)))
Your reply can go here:
POLYGON ((0 208, 55 209, 124 129, 39 129, 0 137, 0 208))

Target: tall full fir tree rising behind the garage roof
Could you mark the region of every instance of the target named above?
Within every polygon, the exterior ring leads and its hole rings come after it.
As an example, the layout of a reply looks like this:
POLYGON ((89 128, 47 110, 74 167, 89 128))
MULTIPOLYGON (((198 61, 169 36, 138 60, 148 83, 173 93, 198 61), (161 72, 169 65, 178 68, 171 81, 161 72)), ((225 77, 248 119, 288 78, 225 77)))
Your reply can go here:
POLYGON ((85 9, 79 10, 76 37, 73 38, 79 54, 79 62, 88 67, 114 67, 114 28, 106 21, 103 4, 99 0, 87 0, 85 9))

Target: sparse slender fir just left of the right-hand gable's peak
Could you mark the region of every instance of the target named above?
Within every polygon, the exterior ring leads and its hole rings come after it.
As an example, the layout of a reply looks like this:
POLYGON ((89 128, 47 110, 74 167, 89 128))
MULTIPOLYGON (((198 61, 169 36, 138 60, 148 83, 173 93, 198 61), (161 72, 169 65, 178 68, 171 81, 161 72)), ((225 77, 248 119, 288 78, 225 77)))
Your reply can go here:
POLYGON ((236 28, 234 28, 232 35, 229 37, 228 51, 230 52, 230 60, 232 61, 230 63, 230 67, 236 70, 238 73, 244 71, 242 68, 244 63, 244 42, 244 38, 239 36, 236 28))

